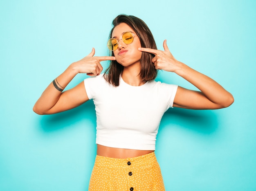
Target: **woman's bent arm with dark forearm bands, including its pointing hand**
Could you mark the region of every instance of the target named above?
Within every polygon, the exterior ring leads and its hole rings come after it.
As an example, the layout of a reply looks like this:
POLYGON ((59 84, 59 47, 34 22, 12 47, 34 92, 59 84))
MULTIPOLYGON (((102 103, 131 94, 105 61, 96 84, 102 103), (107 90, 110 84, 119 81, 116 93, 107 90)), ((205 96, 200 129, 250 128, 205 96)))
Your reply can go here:
POLYGON ((65 92, 62 92, 61 89, 64 89, 78 73, 87 73, 90 76, 99 75, 103 70, 100 61, 115 60, 115 57, 109 56, 93 57, 94 53, 95 50, 92 48, 92 52, 88 56, 72 63, 54 79, 36 101, 33 108, 34 112, 37 114, 54 114, 75 108, 88 101, 83 82, 65 92))

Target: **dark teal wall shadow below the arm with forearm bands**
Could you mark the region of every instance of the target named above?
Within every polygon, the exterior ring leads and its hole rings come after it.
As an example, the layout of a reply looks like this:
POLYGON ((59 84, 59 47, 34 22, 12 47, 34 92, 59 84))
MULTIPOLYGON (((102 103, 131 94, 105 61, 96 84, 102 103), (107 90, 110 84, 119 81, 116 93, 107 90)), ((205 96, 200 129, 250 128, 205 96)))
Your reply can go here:
POLYGON ((90 125, 96 123, 95 107, 92 100, 72 110, 42 116, 40 127, 44 132, 53 132, 88 120, 91 121, 90 125))

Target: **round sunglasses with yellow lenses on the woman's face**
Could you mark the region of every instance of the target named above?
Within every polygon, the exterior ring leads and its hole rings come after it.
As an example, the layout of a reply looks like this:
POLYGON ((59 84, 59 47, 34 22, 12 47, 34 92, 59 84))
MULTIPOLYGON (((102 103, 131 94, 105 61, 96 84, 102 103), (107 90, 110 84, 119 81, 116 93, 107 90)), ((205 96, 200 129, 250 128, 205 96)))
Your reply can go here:
MULTIPOLYGON (((136 34, 133 34, 132 32, 127 31, 127 32, 125 32, 125 33, 122 35, 122 38, 119 39, 119 40, 123 40, 123 42, 124 42, 125 44, 131 44, 132 41, 133 41, 134 35, 136 35, 136 34)), ((115 38, 110 38, 110 40, 108 40, 108 45, 107 45, 107 46, 108 46, 108 49, 111 50, 111 51, 117 50, 117 48, 118 48, 118 41, 119 41, 119 40, 117 40, 117 39, 115 39, 115 38)))

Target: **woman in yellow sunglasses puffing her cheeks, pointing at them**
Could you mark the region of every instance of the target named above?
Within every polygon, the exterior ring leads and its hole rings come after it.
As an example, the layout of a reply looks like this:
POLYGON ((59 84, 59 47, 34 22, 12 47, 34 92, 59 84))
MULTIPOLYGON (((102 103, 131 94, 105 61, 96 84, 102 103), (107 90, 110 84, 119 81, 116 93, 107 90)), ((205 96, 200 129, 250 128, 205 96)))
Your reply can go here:
POLYGON ((137 17, 119 15, 112 22, 108 48, 72 63, 46 88, 34 106, 38 114, 54 114, 93 99, 97 114, 97 156, 90 191, 163 191, 155 158, 160 120, 170 107, 219 109, 234 102, 213 79, 177 61, 164 40, 157 50, 148 26, 137 17), (100 61, 110 60, 103 70, 100 61), (157 70, 175 72, 200 91, 154 81, 157 70), (62 92, 78 73, 87 73, 74 88, 62 92))

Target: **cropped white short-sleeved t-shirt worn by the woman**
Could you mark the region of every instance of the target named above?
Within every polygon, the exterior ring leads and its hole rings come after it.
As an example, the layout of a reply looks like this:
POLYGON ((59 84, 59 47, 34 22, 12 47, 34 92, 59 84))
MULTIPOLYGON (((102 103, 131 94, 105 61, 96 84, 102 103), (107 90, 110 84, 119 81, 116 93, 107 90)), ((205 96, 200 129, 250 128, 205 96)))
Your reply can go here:
POLYGON ((96 117, 96 143, 107 147, 155 150, 162 116, 173 107, 176 85, 148 81, 130 86, 120 76, 119 86, 108 83, 103 75, 84 80, 96 117))

